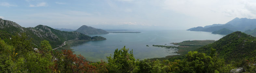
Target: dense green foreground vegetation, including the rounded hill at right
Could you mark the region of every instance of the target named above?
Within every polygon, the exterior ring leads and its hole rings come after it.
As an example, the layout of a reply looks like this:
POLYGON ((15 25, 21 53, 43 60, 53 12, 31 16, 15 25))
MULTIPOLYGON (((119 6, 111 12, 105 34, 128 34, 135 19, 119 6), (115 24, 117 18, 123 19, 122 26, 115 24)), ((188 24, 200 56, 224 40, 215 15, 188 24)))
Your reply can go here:
POLYGON ((188 54, 168 60, 139 61, 133 51, 116 49, 106 62, 88 62, 70 50, 52 50, 48 41, 33 49, 32 39, 25 34, 12 36, 10 43, 0 40, 0 71, 25 73, 229 73, 235 67, 256 72, 256 39, 241 32, 188 54), (241 50, 242 49, 242 50, 241 50), (198 51, 198 52, 197 52, 198 51), (236 55, 237 54, 237 55, 236 55))

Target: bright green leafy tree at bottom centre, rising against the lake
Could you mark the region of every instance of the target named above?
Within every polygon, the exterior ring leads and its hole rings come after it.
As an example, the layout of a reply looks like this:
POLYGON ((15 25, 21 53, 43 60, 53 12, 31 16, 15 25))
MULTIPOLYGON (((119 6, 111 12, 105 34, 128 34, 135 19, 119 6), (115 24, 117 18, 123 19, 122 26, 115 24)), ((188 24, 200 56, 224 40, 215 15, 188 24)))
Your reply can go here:
POLYGON ((129 49, 124 46, 121 50, 115 50, 113 58, 111 56, 107 57, 110 73, 132 73, 138 70, 137 61, 132 54, 132 50, 130 53, 128 51, 129 49))

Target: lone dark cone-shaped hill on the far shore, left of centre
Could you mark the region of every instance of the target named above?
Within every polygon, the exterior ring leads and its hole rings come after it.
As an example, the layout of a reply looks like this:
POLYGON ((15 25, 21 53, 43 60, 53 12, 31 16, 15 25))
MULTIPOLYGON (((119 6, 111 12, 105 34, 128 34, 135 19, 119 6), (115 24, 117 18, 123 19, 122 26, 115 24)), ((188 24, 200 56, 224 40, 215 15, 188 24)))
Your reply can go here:
POLYGON ((107 31, 101 30, 101 29, 96 29, 90 26, 83 25, 77 30, 77 32, 83 33, 83 34, 108 34, 107 31))

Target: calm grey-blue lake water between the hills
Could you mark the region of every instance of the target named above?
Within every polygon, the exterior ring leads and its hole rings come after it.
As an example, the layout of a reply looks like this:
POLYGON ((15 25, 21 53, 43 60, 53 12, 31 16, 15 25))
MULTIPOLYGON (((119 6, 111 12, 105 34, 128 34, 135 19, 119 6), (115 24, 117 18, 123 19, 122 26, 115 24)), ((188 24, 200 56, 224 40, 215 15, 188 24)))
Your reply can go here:
MULTIPOLYGON (((178 55, 178 49, 165 49, 154 45, 171 45, 186 40, 219 40, 225 35, 211 34, 211 32, 187 30, 143 30, 141 33, 109 33, 88 36, 102 36, 107 40, 88 41, 79 43, 71 48, 74 54, 81 54, 89 61, 107 61, 106 56, 114 55, 115 49, 124 46, 133 49, 136 59, 160 58, 168 55, 178 55), (147 47, 146 45, 149 45, 147 47)), ((72 44, 71 44, 72 45, 72 44)))

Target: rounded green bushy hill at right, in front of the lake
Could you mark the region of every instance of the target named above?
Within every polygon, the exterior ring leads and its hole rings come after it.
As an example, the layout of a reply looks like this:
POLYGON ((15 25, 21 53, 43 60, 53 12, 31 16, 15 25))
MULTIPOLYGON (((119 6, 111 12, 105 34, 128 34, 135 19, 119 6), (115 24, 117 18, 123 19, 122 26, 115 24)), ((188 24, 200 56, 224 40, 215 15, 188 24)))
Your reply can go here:
POLYGON ((224 58, 226 62, 240 62, 256 56, 256 38, 236 31, 195 51, 210 55, 215 52, 212 49, 216 49, 218 57, 224 58))

